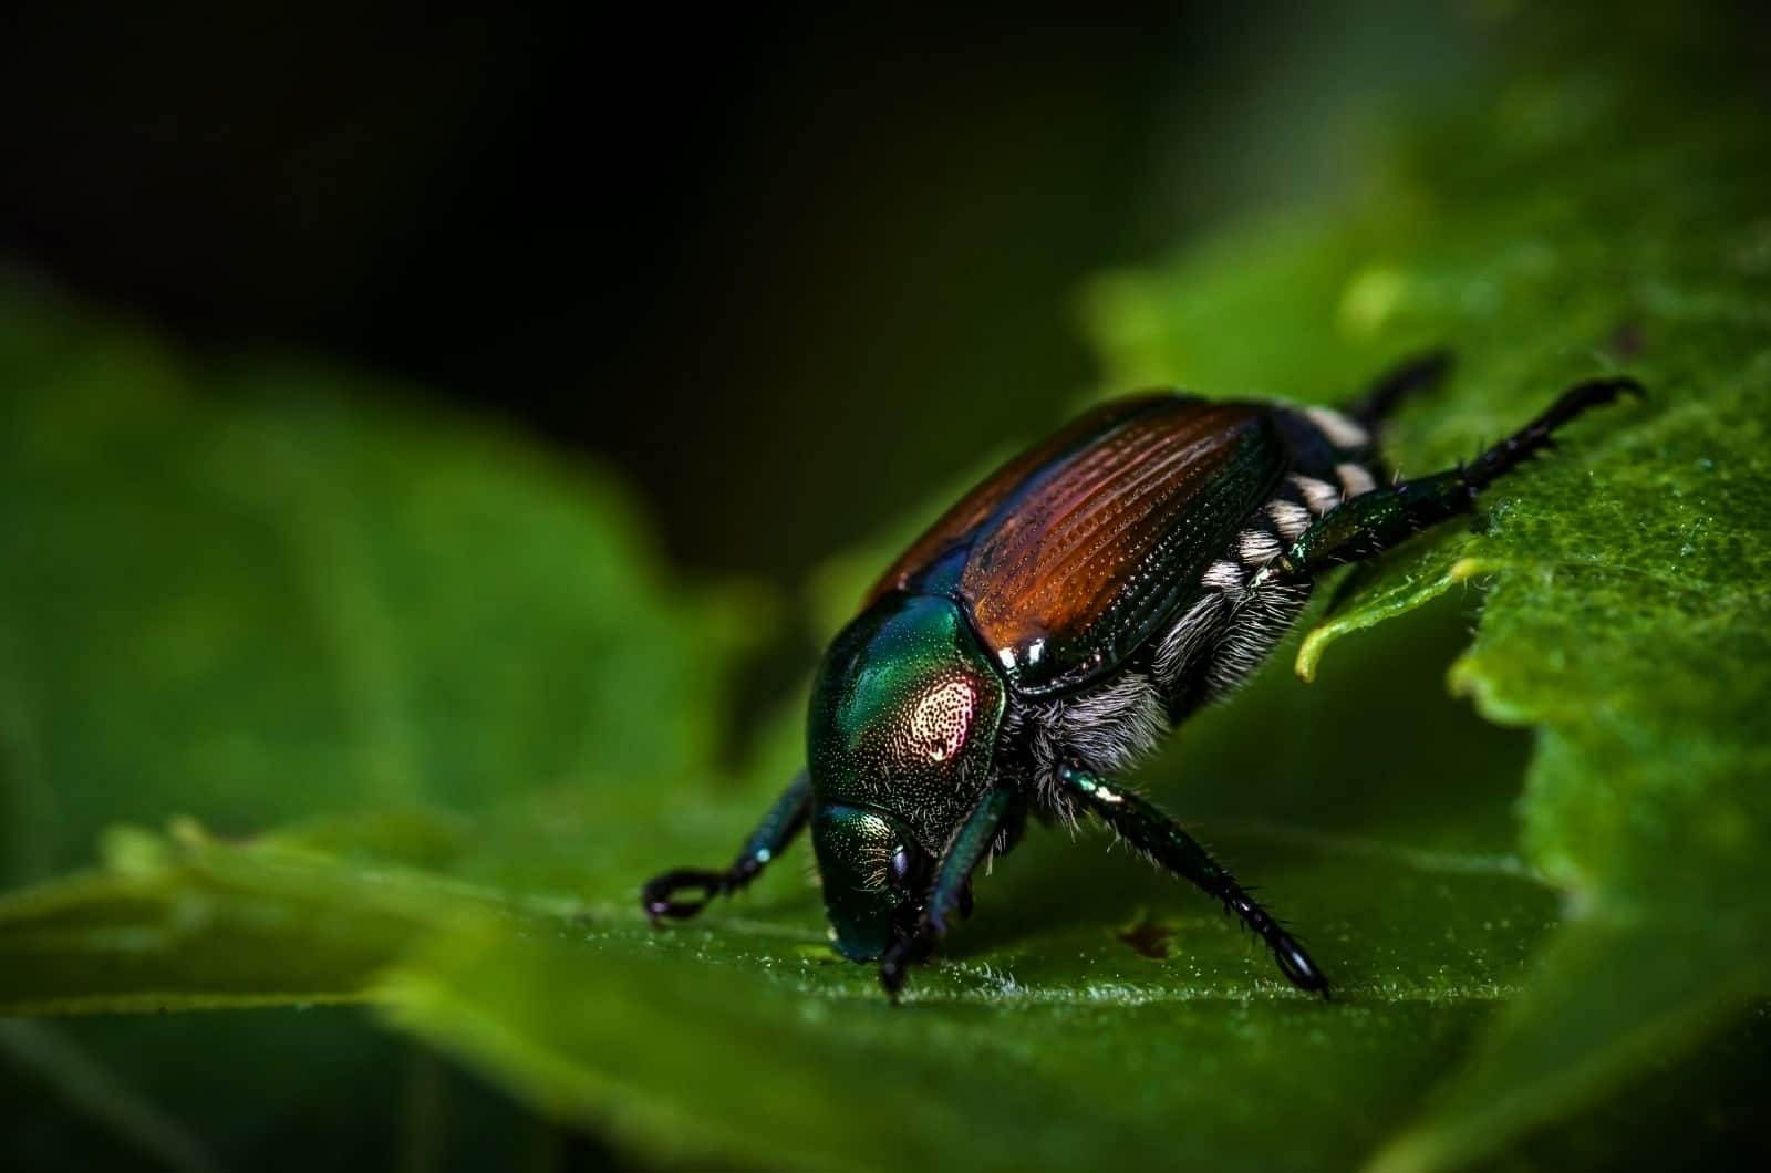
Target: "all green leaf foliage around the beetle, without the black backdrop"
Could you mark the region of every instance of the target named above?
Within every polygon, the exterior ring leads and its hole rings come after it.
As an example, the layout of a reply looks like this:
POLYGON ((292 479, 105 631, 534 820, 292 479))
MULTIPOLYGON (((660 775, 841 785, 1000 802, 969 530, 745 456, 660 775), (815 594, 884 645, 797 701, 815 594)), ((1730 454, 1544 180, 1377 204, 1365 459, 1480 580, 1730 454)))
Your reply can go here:
MULTIPOLYGON (((673 585, 606 478, 522 443, 14 292, 0 1008, 368 1003, 646 1162, 1541 1168, 1741 1143, 1771 978, 1771 144, 1720 67, 1578 48, 1518 50, 1350 207, 1091 291, 1114 390, 1334 400, 1454 344, 1456 379, 1390 438, 1410 471, 1574 377, 1652 388, 1496 487, 1479 532, 1337 583, 1146 773, 1337 1001, 1098 836, 1002 861, 900 1008, 825 946, 802 849, 650 930, 638 882, 723 861, 785 781, 717 760, 767 601, 673 585)), ((843 567, 822 595, 873 569, 843 567)), ((159 1088, 90 1076, 124 1047, 12 1026, 11 1068, 87 1072, 85 1111, 143 1162, 207 1162, 159 1088)))

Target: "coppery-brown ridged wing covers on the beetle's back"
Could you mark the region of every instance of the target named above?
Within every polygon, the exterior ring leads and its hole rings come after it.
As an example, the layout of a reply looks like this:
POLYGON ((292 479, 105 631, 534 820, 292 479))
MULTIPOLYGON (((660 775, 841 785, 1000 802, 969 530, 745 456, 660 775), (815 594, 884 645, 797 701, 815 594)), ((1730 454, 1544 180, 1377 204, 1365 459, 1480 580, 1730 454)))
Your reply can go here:
POLYGON ((1020 693, 1087 684, 1148 641, 1288 466, 1257 404, 1103 404, 965 494, 875 585, 958 599, 1020 693))

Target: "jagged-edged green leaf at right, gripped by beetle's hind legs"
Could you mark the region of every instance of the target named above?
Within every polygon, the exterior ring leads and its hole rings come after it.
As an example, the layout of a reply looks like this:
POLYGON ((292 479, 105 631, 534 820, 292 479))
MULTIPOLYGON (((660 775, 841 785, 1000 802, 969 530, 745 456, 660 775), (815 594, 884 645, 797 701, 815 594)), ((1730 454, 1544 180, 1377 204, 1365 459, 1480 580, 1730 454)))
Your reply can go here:
MULTIPOLYGON (((1300 652, 1312 677, 1341 636, 1477 585, 1481 627, 1450 686, 1539 730, 1523 842, 1567 893, 1571 923, 1525 994, 1380 1154, 1385 1169, 1491 1155, 1697 1045, 1771 983, 1767 144, 1760 120, 1705 101, 1716 76, 1686 74, 1674 96, 1608 48, 1436 126, 1360 214, 1226 237, 1094 299, 1118 370, 1227 390, 1252 377, 1249 354, 1282 346, 1335 374, 1348 356, 1454 346, 1454 385, 1392 438, 1415 471, 1583 374, 1628 369, 1651 388, 1498 486, 1479 533, 1351 579, 1300 652), (1309 346, 1261 344, 1280 289, 1280 322, 1309 346), (1286 317, 1309 305, 1335 314, 1286 317)), ((1298 393, 1323 388, 1296 374, 1298 393)))

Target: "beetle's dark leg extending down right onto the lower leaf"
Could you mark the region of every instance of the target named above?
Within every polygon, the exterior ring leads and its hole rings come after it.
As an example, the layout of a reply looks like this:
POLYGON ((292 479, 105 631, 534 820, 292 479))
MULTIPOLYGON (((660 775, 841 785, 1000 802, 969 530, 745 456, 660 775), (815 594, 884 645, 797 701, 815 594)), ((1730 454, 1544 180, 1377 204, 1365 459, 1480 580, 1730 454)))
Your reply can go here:
POLYGON ((1316 967, 1311 955, 1303 952, 1286 928, 1273 916, 1254 902, 1236 877, 1199 845, 1192 835, 1181 829, 1172 819, 1146 803, 1130 790, 1109 783, 1086 769, 1063 765, 1057 771, 1059 781, 1084 806, 1094 812, 1107 826, 1125 836, 1133 847, 1148 852, 1156 863, 1174 872, 1181 879, 1192 881, 1210 897, 1224 902, 1224 907, 1241 918, 1261 941, 1273 950, 1279 971, 1302 990, 1328 998, 1328 978, 1316 967))

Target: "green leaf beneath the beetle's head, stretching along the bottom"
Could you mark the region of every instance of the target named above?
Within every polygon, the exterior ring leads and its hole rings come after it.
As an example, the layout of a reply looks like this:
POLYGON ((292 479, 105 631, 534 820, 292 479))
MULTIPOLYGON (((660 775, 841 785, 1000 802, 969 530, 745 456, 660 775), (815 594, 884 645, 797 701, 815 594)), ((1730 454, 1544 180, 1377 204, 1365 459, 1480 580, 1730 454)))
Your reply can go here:
MULTIPOLYGON (((597 842, 595 826, 576 831, 597 842)), ((668 827, 657 838, 664 858, 680 851, 668 827)), ((1220 913, 1139 861, 1045 842, 1004 863, 992 918, 894 1010, 866 967, 822 944, 815 895, 793 874, 705 925, 657 934, 622 877, 595 884, 606 905, 553 907, 345 863, 315 842, 340 843, 329 827, 243 845, 131 833, 104 872, 0 909, 0 1006, 370 998, 530 1102, 661 1159, 742 1157, 792 1136, 783 1159, 808 1168, 875 1168, 882 1154, 1071 1168, 1158 1159, 1181 1115, 1208 1122, 1188 1152, 1236 1162, 1256 1123, 1250 1091, 1264 1086, 1293 1106, 1295 1132, 1275 1154, 1296 1162, 1381 1136, 1381 1113, 1346 1129, 1348 1086, 1378 1102, 1419 1095, 1514 989, 1551 914, 1507 856, 1261 826, 1220 836, 1240 858, 1289 861, 1266 879, 1341 960, 1350 1001, 1328 1006, 1289 990, 1220 913), (1311 902, 1311 886, 1332 895, 1311 902), (1436 964, 1410 959, 1396 907, 1443 934, 1436 964), (1119 939, 1132 918, 1174 934, 1165 959, 1119 939), (165 973, 179 975, 170 994, 165 973), (994 1076, 983 1088, 979 1070, 994 1076), (1006 1150, 1006 1134, 1032 1148, 1006 1150)), ((533 866, 545 889, 542 874, 570 865, 533 866)))

